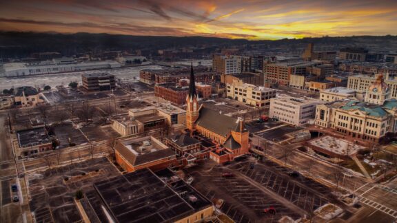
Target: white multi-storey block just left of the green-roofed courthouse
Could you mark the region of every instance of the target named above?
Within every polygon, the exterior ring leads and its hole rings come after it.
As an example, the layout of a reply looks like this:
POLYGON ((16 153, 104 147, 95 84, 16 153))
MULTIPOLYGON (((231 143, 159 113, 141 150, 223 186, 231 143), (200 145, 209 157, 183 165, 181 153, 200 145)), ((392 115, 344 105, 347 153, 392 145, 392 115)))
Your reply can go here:
POLYGON ((290 125, 304 125, 314 119, 316 105, 323 104, 321 100, 312 98, 281 97, 270 99, 271 118, 277 118, 290 125))

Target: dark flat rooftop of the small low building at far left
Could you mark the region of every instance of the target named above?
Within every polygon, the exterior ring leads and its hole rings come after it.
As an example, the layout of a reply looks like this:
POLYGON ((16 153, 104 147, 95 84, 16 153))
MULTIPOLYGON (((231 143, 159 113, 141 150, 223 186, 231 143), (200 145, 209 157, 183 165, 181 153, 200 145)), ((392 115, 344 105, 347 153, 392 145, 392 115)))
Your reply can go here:
POLYGON ((17 137, 20 147, 31 147, 51 142, 44 127, 17 131, 17 137))

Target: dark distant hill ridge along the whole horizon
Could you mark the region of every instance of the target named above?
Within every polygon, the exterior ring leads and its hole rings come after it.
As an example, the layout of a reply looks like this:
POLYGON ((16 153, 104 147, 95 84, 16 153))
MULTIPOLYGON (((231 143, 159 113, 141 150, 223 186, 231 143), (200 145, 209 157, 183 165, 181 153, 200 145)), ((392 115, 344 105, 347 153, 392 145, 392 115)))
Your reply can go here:
POLYGON ((343 45, 368 47, 369 49, 397 50, 397 36, 348 36, 304 39, 281 39, 277 41, 248 41, 204 36, 130 36, 121 34, 60 34, 39 32, 0 32, 0 56, 21 58, 32 52, 61 52, 65 56, 100 52, 103 50, 167 49, 187 46, 230 47, 233 45, 267 45, 278 47, 292 45, 302 47, 306 43, 328 45, 339 49, 343 45))

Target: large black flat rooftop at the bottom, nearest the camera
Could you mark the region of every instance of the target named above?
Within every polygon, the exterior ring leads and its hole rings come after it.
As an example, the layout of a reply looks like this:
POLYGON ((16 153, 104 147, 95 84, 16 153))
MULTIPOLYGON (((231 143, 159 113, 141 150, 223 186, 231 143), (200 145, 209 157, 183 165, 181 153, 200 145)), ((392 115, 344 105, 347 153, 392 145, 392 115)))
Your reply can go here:
POLYGON ((94 184, 96 193, 87 197, 101 222, 110 222, 109 217, 115 222, 175 222, 212 206, 171 171, 166 169, 159 175, 141 169, 103 180, 94 184))

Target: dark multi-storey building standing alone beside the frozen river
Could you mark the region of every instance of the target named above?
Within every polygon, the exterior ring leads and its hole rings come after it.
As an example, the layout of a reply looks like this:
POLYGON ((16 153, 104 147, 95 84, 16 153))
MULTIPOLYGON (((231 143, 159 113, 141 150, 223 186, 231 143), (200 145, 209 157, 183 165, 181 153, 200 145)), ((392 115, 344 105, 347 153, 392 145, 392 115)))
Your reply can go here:
POLYGON ((89 91, 108 91, 116 87, 114 75, 108 73, 81 74, 81 81, 89 91))

